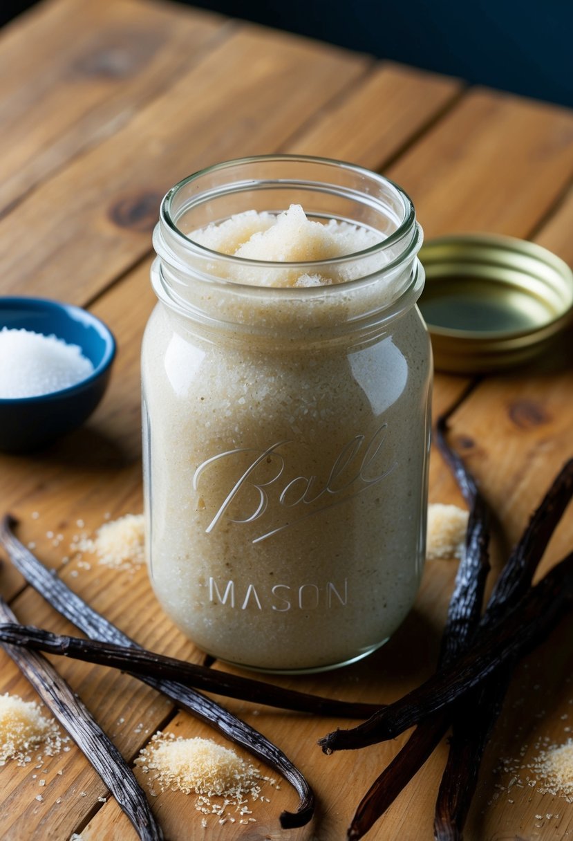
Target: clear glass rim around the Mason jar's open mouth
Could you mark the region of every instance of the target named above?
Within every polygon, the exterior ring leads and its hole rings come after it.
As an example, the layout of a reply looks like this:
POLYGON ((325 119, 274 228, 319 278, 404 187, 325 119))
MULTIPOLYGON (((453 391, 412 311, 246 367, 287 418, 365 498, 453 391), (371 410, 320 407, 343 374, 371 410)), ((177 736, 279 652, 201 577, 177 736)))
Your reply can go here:
MULTIPOLYGON (((289 184, 300 184, 302 183, 301 179, 281 179, 276 181, 279 186, 288 186, 289 184)), ((315 182, 313 186, 318 187, 318 182, 315 182)), ((340 191, 339 185, 332 184, 331 188, 334 190, 336 189, 337 192, 340 191)), ((325 190, 325 186, 323 185, 323 191, 325 190)), ((347 191, 349 195, 354 193, 356 196, 359 195, 357 191, 350 190, 347 191)), ((360 193, 360 200, 362 203, 365 203, 365 198, 370 198, 370 204, 376 204, 376 197, 365 197, 364 193, 360 193)), ((368 202, 366 202, 368 204, 368 202)), ((213 164, 209 167, 203 167, 197 172, 193 172, 191 175, 182 178, 181 181, 177 182, 164 196, 160 204, 160 225, 165 225, 167 230, 171 235, 176 238, 176 242, 178 246, 183 246, 192 254, 196 256, 208 257, 209 259, 217 259, 220 262, 228 263, 234 266, 241 266, 241 267, 260 267, 266 269, 274 269, 274 268, 283 268, 283 269, 296 269, 301 268, 302 270, 308 270, 310 268, 316 269, 318 266, 325 266, 325 267, 334 267, 344 265, 346 262, 355 262, 356 260, 361 260, 369 257, 373 257, 377 254, 381 254, 387 249, 396 246, 397 242, 402 240, 408 234, 411 235, 411 241, 407 243, 406 251, 409 250, 409 246, 414 246, 415 251, 417 252, 421 243, 418 241, 418 230, 419 226, 417 225, 416 221, 416 213, 413 206, 412 199, 408 196, 408 194, 399 186, 397 183, 393 182, 390 178, 380 175, 378 172, 373 172, 365 167, 360 167, 358 164, 353 164, 348 161, 339 161, 334 158, 326 158, 326 157, 319 157, 319 156, 312 156, 312 155, 286 155, 286 154, 272 154, 272 155, 255 155, 255 156, 246 156, 241 158, 234 158, 229 161, 222 161, 217 164, 213 164), (177 222, 181 218, 184 212, 188 209, 195 207, 199 204, 203 204, 204 202, 215 198, 222 193, 229 193, 229 192, 240 192, 245 188, 253 188, 257 183, 260 184, 262 182, 257 182, 255 179, 250 178, 248 180, 237 182, 235 185, 226 184, 224 188, 212 188, 205 190, 203 192, 197 193, 197 195, 191 199, 188 199, 186 204, 184 204, 181 209, 179 210, 178 214, 173 212, 173 204, 175 198, 181 192, 183 188, 186 188, 189 184, 193 182, 197 182, 197 180, 201 177, 208 176, 209 173, 213 172, 223 172, 226 169, 231 169, 233 167, 239 167, 241 165, 249 165, 249 164, 256 164, 256 163, 272 163, 273 161, 276 162, 302 162, 308 164, 318 164, 324 165, 326 167, 337 167, 337 169, 343 169, 346 172, 352 172, 356 175, 360 175, 362 177, 368 177, 374 182, 378 182, 381 186, 385 188, 391 188, 392 193, 394 194, 394 198, 399 200, 399 203, 402 205, 403 215, 402 220, 397 225, 397 229, 392 231, 392 233, 386 236, 385 239, 382 239, 380 242, 377 242, 373 246, 368 246, 361 251, 353 251, 350 254, 344 254, 339 257, 329 257, 323 260, 308 260, 308 261, 295 261, 295 262, 288 262, 288 261, 271 261, 271 260, 254 260, 252 258, 247 257, 236 257, 233 254, 225 254, 222 251, 213 251, 213 249, 208 248, 207 246, 202 246, 199 242, 192 240, 192 238, 186 234, 184 234, 181 229, 178 227, 177 222)), ((405 255, 401 255, 401 259, 403 259, 405 255)), ((234 282, 236 283, 236 282, 234 282)), ((350 282, 351 283, 351 282, 350 282)), ((237 285, 248 285, 248 284, 237 284, 237 285)), ((344 285, 344 284, 342 284, 344 285)))

